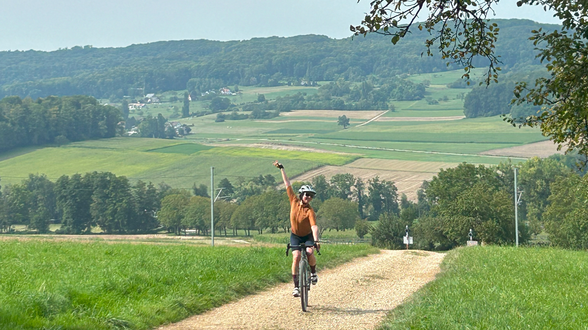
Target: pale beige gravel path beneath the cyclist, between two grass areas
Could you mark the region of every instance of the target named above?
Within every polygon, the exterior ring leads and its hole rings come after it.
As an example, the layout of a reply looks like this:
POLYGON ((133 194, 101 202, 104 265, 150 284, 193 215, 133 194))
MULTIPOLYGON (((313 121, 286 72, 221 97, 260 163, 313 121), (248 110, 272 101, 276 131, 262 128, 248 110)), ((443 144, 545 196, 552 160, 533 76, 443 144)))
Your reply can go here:
POLYGON ((373 329, 390 309, 435 278, 443 257, 425 251, 382 251, 319 272, 306 313, 300 310, 300 299, 290 295, 293 285, 288 283, 160 329, 373 329))

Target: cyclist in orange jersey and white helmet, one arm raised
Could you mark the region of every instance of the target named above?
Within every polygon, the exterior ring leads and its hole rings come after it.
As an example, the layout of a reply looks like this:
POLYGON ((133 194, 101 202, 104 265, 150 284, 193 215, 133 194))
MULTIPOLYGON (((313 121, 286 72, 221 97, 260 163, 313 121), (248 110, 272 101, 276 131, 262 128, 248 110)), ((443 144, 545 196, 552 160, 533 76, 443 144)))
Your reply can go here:
MULTIPOLYGON (((292 233, 290 234, 290 245, 300 245, 306 243, 306 245, 313 245, 316 243, 317 250, 320 249, 319 244, 319 227, 316 225, 315 211, 310 206, 310 201, 315 197, 316 191, 308 186, 302 186, 298 190, 298 196, 294 194, 294 190, 290 185, 290 180, 286 176, 286 171, 282 164, 278 161, 274 161, 273 165, 278 167, 282 172, 282 179, 286 185, 286 192, 290 199, 290 228, 292 233)), ((292 295, 294 297, 300 297, 300 288, 298 288, 298 264, 301 258, 302 248, 292 249, 292 280, 294 281, 294 291, 292 295)), ((316 258, 313 254, 313 248, 306 248, 306 255, 308 255, 308 265, 310 266, 310 283, 316 284, 319 277, 316 275, 316 258)))

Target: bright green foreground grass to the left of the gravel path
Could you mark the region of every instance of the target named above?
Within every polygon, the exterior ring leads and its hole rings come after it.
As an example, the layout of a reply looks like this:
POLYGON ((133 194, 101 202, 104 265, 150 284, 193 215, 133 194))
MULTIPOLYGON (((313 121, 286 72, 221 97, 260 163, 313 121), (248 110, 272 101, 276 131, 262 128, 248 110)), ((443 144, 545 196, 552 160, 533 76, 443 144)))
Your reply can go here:
MULTIPOLYGON (((6 330, 151 329, 291 281, 283 247, 3 240, 0 250, 6 330)), ((318 265, 373 253, 369 245, 333 245, 318 265)))

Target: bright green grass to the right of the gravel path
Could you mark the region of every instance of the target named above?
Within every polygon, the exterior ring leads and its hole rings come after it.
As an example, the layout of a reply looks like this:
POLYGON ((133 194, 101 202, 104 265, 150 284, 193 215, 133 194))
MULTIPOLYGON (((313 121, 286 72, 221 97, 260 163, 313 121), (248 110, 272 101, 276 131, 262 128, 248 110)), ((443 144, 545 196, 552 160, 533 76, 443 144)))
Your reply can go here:
POLYGON ((442 268, 380 329, 588 328, 586 252, 459 248, 442 268))

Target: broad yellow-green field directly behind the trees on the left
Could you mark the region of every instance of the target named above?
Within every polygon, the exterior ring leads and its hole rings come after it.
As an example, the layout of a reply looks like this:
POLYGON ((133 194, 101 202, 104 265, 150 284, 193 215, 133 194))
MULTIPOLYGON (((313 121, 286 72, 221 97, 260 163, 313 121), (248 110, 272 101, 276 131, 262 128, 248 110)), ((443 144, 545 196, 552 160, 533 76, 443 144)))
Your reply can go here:
MULTIPOLYGON (((176 140, 140 139, 135 137, 71 143, 47 147, 0 161, 2 183, 17 183, 29 173, 46 174, 55 180, 66 174, 88 171, 111 171, 131 180, 164 181, 178 188, 191 188, 193 183, 208 184, 210 167, 218 178, 276 175, 272 161, 288 164, 295 176, 325 164, 342 165, 357 158, 352 155, 303 153, 300 151, 255 148, 212 148, 176 140), (158 152, 163 151, 163 152, 158 152), (197 151, 201 150, 201 151, 197 151), (195 151, 193 153, 192 151, 195 151)), ((279 174, 279 173, 278 173, 279 174)))

